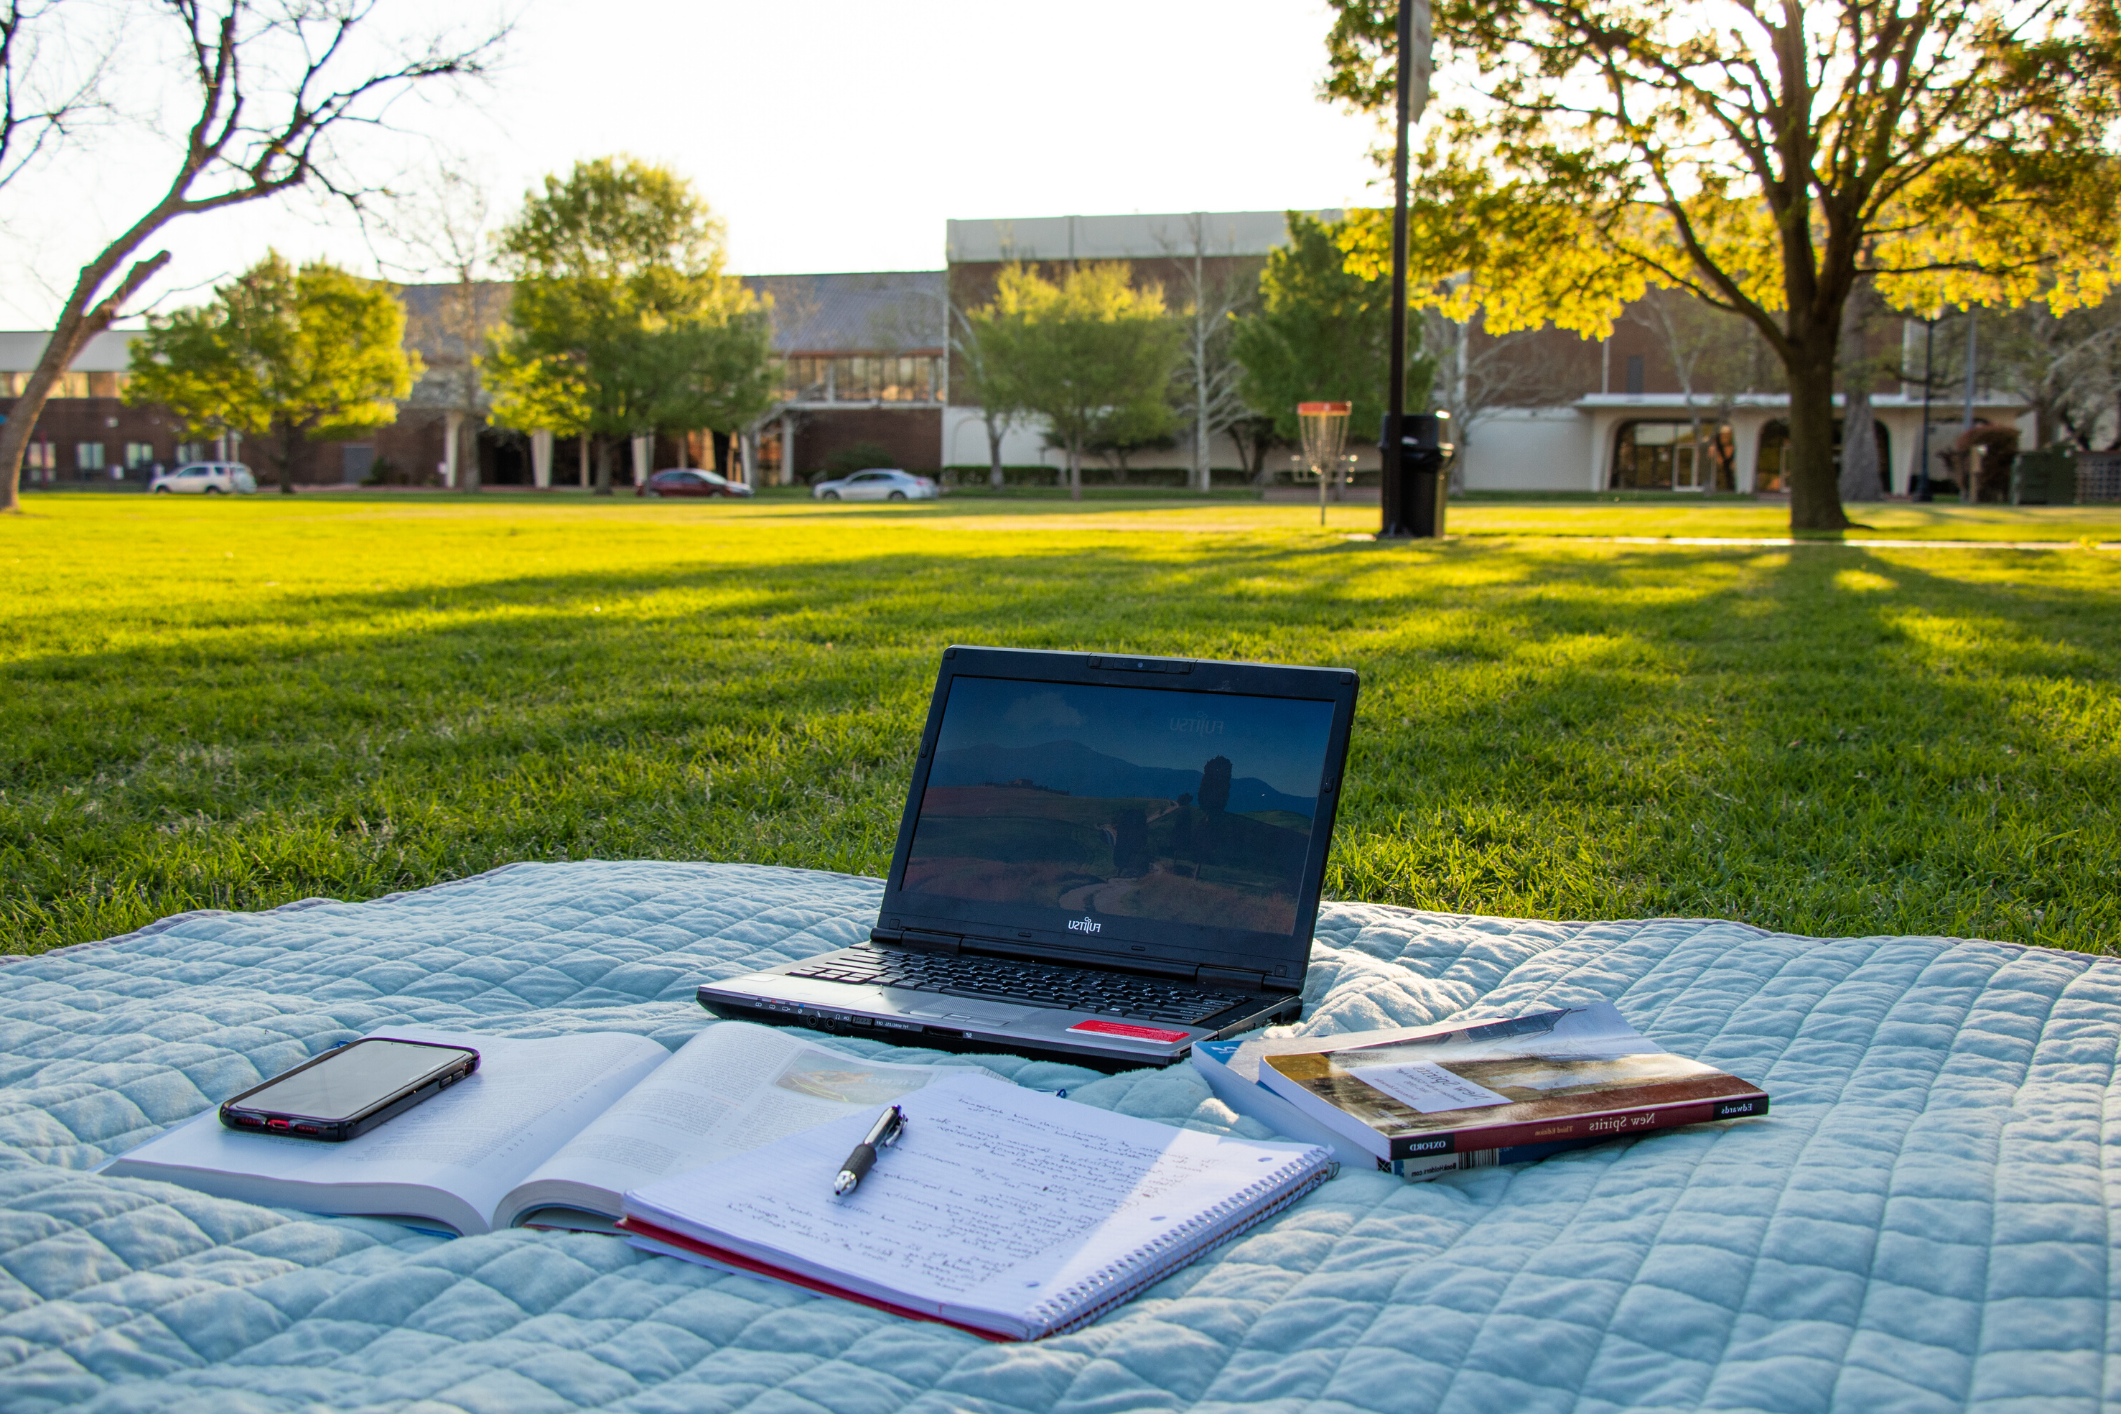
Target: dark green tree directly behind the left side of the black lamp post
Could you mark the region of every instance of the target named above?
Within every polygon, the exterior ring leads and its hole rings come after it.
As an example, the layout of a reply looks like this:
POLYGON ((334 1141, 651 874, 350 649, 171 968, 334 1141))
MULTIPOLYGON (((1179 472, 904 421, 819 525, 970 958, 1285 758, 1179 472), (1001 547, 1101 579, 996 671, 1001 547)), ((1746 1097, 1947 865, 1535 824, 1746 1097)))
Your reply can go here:
MULTIPOLYGON (((1302 428, 1298 403, 1353 403, 1351 439, 1381 428, 1389 379, 1391 284, 1351 269, 1345 223, 1290 212, 1290 242, 1266 257, 1258 314, 1237 320, 1245 403, 1275 420, 1281 441, 1302 428)), ((1427 396, 1432 367, 1408 329, 1406 403, 1427 396)))

